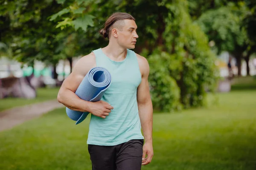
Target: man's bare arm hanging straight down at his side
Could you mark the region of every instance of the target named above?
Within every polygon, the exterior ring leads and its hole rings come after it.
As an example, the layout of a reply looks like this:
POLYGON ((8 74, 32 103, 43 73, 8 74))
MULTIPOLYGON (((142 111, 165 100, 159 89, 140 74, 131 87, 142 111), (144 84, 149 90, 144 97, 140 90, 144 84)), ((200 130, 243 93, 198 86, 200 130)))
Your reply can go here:
POLYGON ((142 80, 137 88, 137 102, 139 108, 139 116, 141 127, 143 130, 143 136, 145 139, 145 144, 143 146, 143 161, 142 164, 146 165, 151 162, 153 157, 153 142, 152 142, 152 129, 153 129, 153 107, 149 92, 148 85, 148 74, 149 65, 148 61, 142 57, 138 56, 138 61, 140 65, 140 72, 142 74, 142 80), (145 156, 147 155, 147 158, 145 156))

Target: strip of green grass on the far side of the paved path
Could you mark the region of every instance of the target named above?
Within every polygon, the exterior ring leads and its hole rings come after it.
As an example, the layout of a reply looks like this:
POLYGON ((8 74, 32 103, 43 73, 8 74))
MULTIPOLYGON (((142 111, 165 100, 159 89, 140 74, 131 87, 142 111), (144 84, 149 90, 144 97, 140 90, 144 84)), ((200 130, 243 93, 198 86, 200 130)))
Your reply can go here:
POLYGON ((38 88, 38 96, 35 99, 5 98, 0 99, 0 111, 14 108, 17 106, 29 105, 37 102, 43 102, 49 99, 57 99, 59 88, 38 88))

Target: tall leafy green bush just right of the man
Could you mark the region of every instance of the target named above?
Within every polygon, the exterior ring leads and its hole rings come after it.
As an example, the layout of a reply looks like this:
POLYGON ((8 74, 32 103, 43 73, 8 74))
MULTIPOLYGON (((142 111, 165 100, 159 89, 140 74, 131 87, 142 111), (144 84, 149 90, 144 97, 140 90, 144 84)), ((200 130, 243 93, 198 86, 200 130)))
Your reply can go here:
POLYGON ((152 102, 161 111, 203 105, 206 87, 213 90, 217 82, 215 54, 184 6, 186 1, 166 4, 165 43, 151 54, 142 54, 150 65, 152 102))

